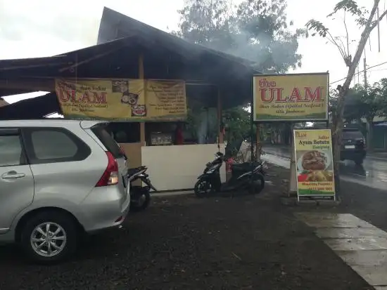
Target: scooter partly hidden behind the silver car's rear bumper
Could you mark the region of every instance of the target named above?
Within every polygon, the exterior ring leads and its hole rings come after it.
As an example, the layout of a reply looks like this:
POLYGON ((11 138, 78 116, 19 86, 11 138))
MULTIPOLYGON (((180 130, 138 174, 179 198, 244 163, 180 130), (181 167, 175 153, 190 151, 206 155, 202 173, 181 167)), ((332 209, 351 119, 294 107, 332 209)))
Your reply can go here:
POLYGON ((134 169, 128 169, 127 179, 130 185, 130 211, 143 211, 151 202, 151 190, 156 191, 151 180, 149 180, 146 166, 139 166, 134 169), (141 180, 146 186, 134 185, 136 180, 141 180))

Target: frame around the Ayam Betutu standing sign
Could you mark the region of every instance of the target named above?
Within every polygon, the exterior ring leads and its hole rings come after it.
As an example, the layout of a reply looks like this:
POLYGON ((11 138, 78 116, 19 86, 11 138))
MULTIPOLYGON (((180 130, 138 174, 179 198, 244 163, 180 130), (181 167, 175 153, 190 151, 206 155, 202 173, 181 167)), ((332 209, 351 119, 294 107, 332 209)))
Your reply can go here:
MULTIPOLYGON (((335 179, 334 179, 334 172, 335 172, 335 168, 334 168, 334 154, 333 154, 333 143, 332 143, 332 132, 331 132, 331 129, 329 128, 326 128, 326 129, 296 129, 296 130, 293 130, 293 145, 294 145, 294 157, 295 157, 295 166, 296 166, 296 184, 297 184, 297 200, 298 202, 300 201, 300 197, 307 197, 307 198, 310 198, 310 199, 333 199, 334 201, 336 201, 336 184, 335 184, 335 179), (331 166, 332 166, 332 185, 333 185, 333 193, 330 194, 330 195, 300 195, 299 194, 299 185, 298 185, 298 155, 297 155, 297 145, 296 145, 296 131, 300 131, 300 132, 310 132, 310 131, 326 131, 326 132, 329 132, 329 154, 330 154, 330 158, 331 158, 331 166)), ((324 170, 325 171, 325 170, 324 170)))

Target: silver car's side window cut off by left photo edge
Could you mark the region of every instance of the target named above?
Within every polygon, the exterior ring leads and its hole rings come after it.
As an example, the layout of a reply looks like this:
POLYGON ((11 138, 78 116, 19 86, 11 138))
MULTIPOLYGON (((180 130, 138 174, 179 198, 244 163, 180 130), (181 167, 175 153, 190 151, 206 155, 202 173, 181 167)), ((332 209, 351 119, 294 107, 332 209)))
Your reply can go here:
POLYGON ((0 136, 0 166, 20 165, 21 157, 19 136, 0 136))

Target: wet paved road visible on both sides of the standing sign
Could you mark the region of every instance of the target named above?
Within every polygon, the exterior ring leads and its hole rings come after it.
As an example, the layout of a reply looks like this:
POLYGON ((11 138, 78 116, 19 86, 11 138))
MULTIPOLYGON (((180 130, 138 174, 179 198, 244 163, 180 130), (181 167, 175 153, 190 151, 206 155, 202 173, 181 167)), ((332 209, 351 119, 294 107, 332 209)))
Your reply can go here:
MULTIPOLYGON (((266 153, 264 159, 279 166, 288 167, 290 148, 288 147, 263 147, 266 153)), ((341 175, 343 180, 360 183, 369 187, 385 190, 387 188, 387 158, 368 156, 363 166, 345 160, 341 162, 341 175)))

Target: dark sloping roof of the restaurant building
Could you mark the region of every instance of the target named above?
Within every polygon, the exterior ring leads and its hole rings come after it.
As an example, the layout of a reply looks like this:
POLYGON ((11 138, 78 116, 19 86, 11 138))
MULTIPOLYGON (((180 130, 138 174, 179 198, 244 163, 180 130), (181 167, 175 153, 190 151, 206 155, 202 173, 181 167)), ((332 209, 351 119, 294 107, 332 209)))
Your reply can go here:
MULTIPOLYGON (((138 54, 144 51, 147 78, 202 80, 215 84, 223 89, 223 107, 234 107, 251 99, 253 74, 260 72, 250 66, 249 60, 191 44, 108 8, 103 11, 99 34, 101 29, 109 35, 96 46, 48 58, 0 60, 0 96, 29 92, 25 86, 9 85, 9 80, 20 78, 36 82, 52 81, 56 77, 136 78, 138 54), (70 70, 72 66, 77 66, 77 70, 70 70)), ((32 88, 32 91, 36 90, 32 88)), ((203 100, 209 101, 205 99, 208 97, 203 95, 203 100)), ((216 103, 215 95, 211 97, 216 103)))

